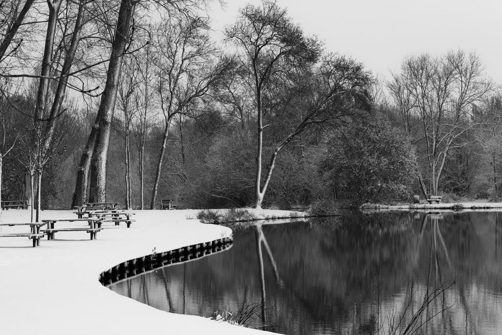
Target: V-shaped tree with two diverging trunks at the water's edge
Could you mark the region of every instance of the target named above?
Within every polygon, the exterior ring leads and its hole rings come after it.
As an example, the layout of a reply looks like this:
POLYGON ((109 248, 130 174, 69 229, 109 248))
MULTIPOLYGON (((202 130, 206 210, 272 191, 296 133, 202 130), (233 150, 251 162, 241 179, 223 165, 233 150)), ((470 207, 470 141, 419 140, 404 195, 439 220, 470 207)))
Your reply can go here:
MULTIPOLYGON (((320 43, 315 38, 305 37, 302 29, 292 23, 287 11, 279 8, 276 2, 264 1, 261 7, 247 5, 225 34, 242 50, 242 62, 249 74, 245 82, 254 93, 258 131, 255 207, 261 208, 278 153, 309 125, 331 120, 339 109, 335 97, 352 100, 349 96, 363 90, 369 83, 369 76, 360 64, 343 57, 328 56, 319 64, 320 43), (263 133, 270 125, 265 118, 270 122, 280 109, 291 111, 294 95, 290 92, 302 82, 314 83, 321 91, 309 90, 312 94, 307 97, 306 109, 300 110, 297 118, 290 121, 291 132, 274 146, 262 184, 263 133), (328 109, 330 112, 326 113, 328 109)), ((298 92, 301 90, 295 90, 298 92)), ((347 105, 341 107, 345 108, 347 105)))

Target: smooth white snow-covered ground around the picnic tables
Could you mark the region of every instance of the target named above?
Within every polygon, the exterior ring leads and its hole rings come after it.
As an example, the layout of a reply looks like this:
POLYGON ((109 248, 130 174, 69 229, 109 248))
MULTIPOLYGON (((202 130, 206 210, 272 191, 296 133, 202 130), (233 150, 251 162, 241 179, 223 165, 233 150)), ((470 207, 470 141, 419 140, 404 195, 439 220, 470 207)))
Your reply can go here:
MULTIPOLYGON (((135 211, 131 228, 108 226, 89 240, 86 232, 59 232, 33 248, 28 238, 0 238, 0 334, 240 334, 259 330, 207 318, 167 313, 118 295, 98 281, 101 272, 133 258, 230 236, 204 225, 196 210, 135 211)), ((286 214, 267 211, 267 214, 286 214)), ((3 211, 3 222, 28 222, 28 210, 3 211)), ((70 210, 44 210, 42 219, 75 218, 70 210)), ((83 226, 81 222, 56 224, 83 226)), ((1 226, 0 226, 1 227, 1 226)), ((3 233, 29 226, 1 227, 3 233)), ((231 271, 231 269, 229 269, 231 271)), ((210 315, 208 315, 210 316, 210 315)))

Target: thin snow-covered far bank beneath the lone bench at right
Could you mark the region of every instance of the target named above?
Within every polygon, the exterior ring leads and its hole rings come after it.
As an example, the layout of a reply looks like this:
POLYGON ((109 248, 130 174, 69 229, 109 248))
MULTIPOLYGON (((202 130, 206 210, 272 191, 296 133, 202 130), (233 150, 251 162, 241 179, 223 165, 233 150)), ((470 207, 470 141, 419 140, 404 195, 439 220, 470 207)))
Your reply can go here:
POLYGON ((407 205, 382 205, 364 204, 361 209, 402 209, 402 210, 502 210, 502 202, 458 202, 458 203, 435 203, 435 204, 407 204, 407 205))

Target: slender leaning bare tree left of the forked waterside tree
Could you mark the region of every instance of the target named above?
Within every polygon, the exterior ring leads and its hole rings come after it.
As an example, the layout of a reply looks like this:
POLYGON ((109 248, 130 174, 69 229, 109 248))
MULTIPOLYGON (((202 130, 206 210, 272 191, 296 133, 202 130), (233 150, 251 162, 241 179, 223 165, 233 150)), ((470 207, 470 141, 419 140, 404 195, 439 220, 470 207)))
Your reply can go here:
POLYGON ((217 49, 210 41, 208 31, 208 20, 197 16, 170 18, 157 30, 156 73, 164 115, 164 136, 150 209, 155 208, 171 121, 177 115, 196 116, 197 101, 208 93, 211 86, 222 81, 230 67, 228 60, 216 58, 217 49))

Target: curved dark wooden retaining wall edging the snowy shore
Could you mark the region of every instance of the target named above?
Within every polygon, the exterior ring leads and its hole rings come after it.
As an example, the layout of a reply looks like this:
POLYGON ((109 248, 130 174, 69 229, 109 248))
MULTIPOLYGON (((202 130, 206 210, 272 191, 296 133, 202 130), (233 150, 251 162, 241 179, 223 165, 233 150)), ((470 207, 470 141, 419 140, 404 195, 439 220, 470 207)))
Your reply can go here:
POLYGON ((136 277, 145 272, 175 263, 182 263, 229 249, 232 238, 223 238, 206 243, 194 244, 175 250, 135 258, 115 265, 99 275, 99 282, 104 286, 136 277))

